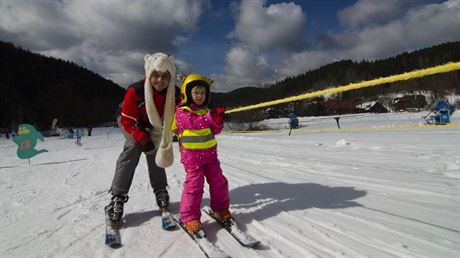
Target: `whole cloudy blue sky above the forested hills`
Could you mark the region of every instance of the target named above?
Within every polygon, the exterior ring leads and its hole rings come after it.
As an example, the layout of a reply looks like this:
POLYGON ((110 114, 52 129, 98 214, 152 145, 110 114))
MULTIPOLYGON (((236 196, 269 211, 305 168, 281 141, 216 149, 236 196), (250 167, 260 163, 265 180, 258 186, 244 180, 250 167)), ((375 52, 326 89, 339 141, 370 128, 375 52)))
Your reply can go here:
POLYGON ((342 59, 459 41, 460 0, 2 0, 0 40, 122 87, 165 52, 214 90, 260 86, 342 59))

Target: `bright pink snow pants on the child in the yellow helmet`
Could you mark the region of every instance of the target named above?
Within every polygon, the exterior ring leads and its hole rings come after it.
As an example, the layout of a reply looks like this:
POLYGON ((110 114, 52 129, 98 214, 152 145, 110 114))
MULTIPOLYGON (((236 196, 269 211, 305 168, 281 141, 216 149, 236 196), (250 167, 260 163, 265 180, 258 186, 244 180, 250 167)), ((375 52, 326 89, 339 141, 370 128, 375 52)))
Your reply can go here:
POLYGON ((204 179, 209 184, 210 206, 213 211, 228 210, 230 205, 227 178, 222 174, 219 160, 203 165, 186 166, 187 173, 180 202, 180 218, 183 223, 201 217, 204 179))

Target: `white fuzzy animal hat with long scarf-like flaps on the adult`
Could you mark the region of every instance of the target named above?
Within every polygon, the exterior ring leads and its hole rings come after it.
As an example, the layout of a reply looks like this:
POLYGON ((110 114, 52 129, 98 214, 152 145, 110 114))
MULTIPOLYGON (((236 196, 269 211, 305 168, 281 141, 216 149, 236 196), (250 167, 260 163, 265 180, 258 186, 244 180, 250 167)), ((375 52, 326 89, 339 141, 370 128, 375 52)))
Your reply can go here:
POLYGON ((163 53, 147 54, 144 57, 145 61, 145 107, 150 123, 153 125, 153 130, 150 132, 150 137, 157 149, 155 162, 159 167, 166 168, 172 165, 174 161, 172 150, 172 132, 170 130, 174 117, 176 106, 175 101, 175 78, 176 66, 174 58, 163 53), (167 87, 166 103, 163 117, 158 114, 155 102, 153 100, 153 90, 150 83, 150 76, 153 71, 166 72, 170 74, 170 81, 167 87))

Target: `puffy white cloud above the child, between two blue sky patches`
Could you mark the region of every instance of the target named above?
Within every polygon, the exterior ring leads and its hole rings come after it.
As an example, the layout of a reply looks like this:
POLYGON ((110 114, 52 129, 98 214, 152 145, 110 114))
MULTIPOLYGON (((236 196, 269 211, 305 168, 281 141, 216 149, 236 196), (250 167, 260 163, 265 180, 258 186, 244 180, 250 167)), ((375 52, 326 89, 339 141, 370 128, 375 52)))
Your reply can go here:
POLYGON ((305 49, 305 20, 294 3, 271 4, 264 0, 243 0, 234 9, 235 29, 229 34, 236 44, 228 51, 222 74, 214 75, 216 91, 260 86, 280 79, 269 64, 270 52, 295 53, 305 49))

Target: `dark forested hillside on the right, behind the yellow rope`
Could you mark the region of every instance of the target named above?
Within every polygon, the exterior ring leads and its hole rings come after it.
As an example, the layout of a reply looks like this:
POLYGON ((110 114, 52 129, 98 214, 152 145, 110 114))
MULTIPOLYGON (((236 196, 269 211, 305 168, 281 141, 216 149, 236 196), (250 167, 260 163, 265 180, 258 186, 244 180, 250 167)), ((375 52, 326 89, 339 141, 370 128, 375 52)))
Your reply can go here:
MULTIPOLYGON (((460 61, 460 42, 444 43, 382 60, 360 62, 342 60, 298 76, 285 78, 264 88, 247 87, 229 93, 215 93, 212 96, 212 105, 223 105, 227 108, 246 106, 458 61, 460 61)), ((417 94, 423 91, 430 92, 433 98, 459 93, 460 71, 343 92, 332 98, 337 101, 362 103, 378 100, 379 97, 389 94, 417 94)), ((324 106, 321 105, 324 101, 323 97, 319 97, 271 108, 280 110, 278 113, 283 113, 283 110, 290 112, 289 110, 294 109, 300 115, 325 115, 326 110, 320 110, 324 106)))

